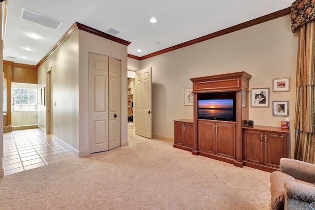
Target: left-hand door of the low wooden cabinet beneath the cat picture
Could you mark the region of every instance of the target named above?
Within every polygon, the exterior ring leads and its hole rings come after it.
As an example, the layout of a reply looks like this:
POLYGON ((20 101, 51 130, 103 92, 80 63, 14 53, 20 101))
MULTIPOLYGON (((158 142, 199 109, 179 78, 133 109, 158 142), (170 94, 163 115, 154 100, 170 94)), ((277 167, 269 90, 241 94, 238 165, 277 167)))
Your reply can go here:
POLYGON ((244 131, 244 159, 263 164, 264 132, 257 130, 244 131))

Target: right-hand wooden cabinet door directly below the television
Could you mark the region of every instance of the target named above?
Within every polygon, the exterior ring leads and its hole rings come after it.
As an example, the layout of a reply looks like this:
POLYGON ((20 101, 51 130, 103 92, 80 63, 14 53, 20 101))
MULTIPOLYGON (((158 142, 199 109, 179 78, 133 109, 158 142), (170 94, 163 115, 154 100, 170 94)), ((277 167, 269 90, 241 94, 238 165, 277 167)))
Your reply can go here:
POLYGON ((217 154, 235 158, 235 124, 216 123, 217 154))

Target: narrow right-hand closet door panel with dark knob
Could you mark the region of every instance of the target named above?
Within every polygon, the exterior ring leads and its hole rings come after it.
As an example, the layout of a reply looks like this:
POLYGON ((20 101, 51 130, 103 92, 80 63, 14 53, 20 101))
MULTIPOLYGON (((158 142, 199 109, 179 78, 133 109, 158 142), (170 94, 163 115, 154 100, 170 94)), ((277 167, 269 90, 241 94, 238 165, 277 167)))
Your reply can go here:
POLYGON ((109 58, 109 150, 121 146, 121 61, 109 58))

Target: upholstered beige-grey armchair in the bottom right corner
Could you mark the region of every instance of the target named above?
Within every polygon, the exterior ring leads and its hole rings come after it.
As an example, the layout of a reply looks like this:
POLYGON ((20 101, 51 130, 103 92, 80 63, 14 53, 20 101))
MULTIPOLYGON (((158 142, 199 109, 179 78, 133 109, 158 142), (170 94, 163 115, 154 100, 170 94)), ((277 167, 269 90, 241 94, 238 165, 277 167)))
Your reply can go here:
POLYGON ((281 158, 270 183, 272 210, 310 210, 315 202, 315 164, 281 158))

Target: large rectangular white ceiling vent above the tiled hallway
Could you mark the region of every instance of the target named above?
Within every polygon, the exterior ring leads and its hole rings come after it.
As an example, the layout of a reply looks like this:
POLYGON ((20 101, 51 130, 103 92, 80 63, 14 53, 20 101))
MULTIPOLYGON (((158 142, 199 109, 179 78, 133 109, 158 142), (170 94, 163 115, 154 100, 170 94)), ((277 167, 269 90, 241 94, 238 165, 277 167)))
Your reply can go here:
POLYGON ((47 26, 52 29, 59 29, 59 27, 63 24, 63 22, 50 18, 48 16, 39 14, 32 10, 22 8, 21 17, 22 20, 30 21, 35 24, 39 24, 42 26, 47 26))

